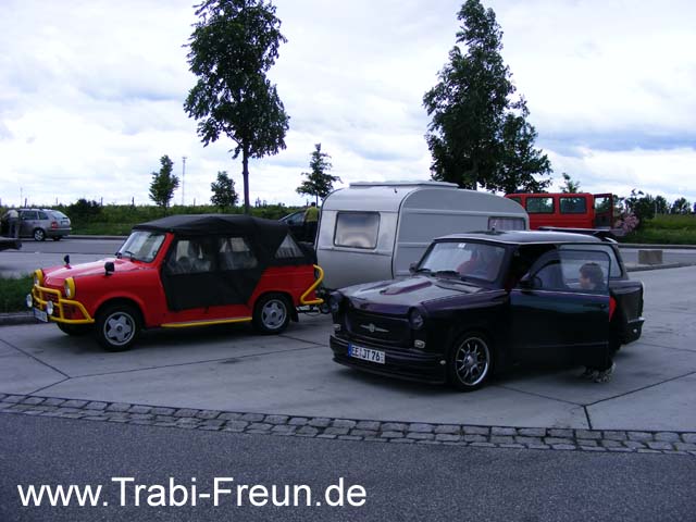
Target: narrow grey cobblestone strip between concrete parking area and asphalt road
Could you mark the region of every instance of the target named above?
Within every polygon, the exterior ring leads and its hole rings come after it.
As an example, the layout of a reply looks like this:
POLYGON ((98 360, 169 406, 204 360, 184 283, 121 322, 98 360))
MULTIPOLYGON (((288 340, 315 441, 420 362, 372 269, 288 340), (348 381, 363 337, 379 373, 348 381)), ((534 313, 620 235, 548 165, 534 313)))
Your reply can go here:
POLYGON ((0 413, 83 419, 185 430, 393 444, 435 444, 587 452, 637 452, 696 457, 696 433, 621 430, 472 426, 235 413, 124 402, 0 394, 0 413))

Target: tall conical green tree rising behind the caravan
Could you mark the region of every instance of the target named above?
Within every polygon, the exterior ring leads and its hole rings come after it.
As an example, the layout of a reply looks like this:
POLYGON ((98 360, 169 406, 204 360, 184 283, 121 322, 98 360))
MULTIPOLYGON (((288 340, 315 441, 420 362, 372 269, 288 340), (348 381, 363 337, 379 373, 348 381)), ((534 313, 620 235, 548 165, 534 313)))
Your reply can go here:
POLYGON ((502 32, 495 13, 467 0, 457 17, 461 28, 449 63, 423 97, 432 116, 425 139, 433 178, 473 189, 539 190, 549 182, 534 176, 552 171, 546 154, 533 147, 536 130, 526 122, 524 99, 512 99, 515 88, 500 55, 502 32))

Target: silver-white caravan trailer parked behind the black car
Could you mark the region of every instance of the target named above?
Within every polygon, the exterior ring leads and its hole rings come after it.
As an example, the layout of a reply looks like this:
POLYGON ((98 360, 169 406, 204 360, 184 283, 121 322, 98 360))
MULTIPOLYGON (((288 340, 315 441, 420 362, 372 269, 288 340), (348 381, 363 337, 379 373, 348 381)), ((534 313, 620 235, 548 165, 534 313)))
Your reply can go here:
POLYGON ((351 183, 324 200, 316 258, 324 286, 343 288, 408 275, 435 237, 529 227, 517 202, 453 183, 351 183))

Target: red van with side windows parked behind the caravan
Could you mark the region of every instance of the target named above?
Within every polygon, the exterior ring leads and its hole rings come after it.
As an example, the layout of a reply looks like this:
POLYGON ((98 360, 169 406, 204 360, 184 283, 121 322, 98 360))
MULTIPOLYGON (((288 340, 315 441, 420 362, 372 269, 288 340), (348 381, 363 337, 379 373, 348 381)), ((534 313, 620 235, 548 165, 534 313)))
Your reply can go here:
POLYGON ((508 194, 530 214, 530 228, 613 231, 613 196, 588 192, 508 194))

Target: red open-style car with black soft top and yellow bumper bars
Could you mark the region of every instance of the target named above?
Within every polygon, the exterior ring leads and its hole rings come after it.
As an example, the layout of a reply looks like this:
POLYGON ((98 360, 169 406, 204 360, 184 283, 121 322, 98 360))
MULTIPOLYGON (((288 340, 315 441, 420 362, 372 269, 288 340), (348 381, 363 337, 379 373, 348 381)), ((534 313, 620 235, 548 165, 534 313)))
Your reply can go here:
POLYGON ((141 328, 251 322, 279 334, 298 307, 320 304, 313 252, 277 221, 172 215, 137 225, 115 259, 37 270, 27 304, 69 335, 88 331, 109 351, 141 328))

